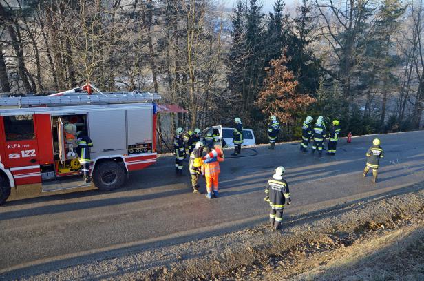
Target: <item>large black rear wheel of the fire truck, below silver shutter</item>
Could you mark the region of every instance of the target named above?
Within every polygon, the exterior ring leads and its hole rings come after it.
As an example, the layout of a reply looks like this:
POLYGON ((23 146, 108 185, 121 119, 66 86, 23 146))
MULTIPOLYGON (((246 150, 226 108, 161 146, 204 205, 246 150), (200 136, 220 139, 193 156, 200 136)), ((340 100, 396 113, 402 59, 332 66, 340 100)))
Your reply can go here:
POLYGON ((107 161, 100 163, 93 172, 94 185, 102 191, 110 191, 125 183, 125 168, 120 163, 107 161))

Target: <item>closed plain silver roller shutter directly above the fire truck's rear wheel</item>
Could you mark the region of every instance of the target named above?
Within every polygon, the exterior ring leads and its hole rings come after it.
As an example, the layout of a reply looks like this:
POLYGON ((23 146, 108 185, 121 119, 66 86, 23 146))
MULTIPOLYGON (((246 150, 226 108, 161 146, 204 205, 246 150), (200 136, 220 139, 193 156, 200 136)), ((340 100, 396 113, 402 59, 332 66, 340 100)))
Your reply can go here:
POLYGON ((127 154, 125 110, 99 110, 88 114, 92 160, 101 156, 127 154))

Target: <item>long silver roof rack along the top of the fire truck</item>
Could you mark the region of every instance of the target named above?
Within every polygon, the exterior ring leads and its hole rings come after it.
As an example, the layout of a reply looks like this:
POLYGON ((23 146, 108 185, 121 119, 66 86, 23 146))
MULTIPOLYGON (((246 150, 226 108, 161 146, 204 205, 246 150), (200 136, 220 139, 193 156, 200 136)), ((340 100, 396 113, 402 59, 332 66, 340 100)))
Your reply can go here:
POLYGON ((0 98, 0 106, 30 107, 37 105, 89 105, 116 103, 147 103, 159 100, 158 94, 149 92, 109 92, 99 95, 72 96, 18 96, 0 98))

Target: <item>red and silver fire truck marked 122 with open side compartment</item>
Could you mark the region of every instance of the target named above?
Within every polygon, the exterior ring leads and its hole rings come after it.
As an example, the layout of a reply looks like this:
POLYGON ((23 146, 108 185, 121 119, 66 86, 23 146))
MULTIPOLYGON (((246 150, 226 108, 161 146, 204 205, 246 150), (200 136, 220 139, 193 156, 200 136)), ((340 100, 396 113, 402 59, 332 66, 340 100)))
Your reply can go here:
POLYGON ((95 187, 123 185, 129 171, 156 162, 158 99, 147 92, 0 98, 0 205, 12 187, 41 183, 45 192, 90 185, 74 152, 76 132, 93 141, 95 187))

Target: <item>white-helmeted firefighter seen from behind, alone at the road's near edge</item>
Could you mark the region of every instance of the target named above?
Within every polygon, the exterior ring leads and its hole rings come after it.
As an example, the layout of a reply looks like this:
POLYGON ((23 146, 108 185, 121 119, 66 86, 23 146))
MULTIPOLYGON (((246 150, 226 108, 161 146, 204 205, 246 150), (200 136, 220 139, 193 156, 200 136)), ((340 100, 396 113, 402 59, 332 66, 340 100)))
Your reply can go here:
POLYGON ((268 180, 268 185, 265 189, 265 201, 269 202, 269 222, 275 230, 279 228, 282 222, 284 204, 288 200, 287 205, 290 205, 290 191, 288 184, 283 178, 284 167, 280 166, 275 169, 275 174, 268 180))

